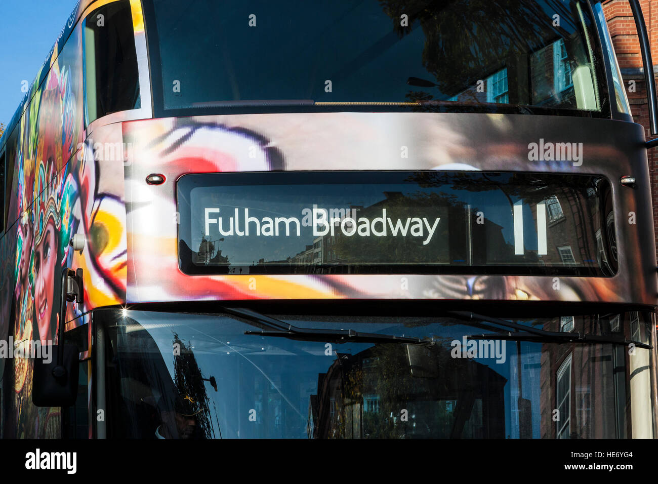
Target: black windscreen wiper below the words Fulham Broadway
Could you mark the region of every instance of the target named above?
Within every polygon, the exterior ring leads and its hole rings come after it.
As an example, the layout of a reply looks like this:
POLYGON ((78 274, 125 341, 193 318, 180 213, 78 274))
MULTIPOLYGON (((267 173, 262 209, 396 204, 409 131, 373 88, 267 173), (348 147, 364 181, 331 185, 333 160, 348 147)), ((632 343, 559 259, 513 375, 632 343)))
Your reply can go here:
POLYGON ((268 315, 246 308, 224 308, 224 311, 238 317, 242 317, 254 323, 260 323, 272 328, 272 331, 245 331, 245 335, 256 336, 282 336, 294 340, 363 343, 402 343, 420 344, 432 346, 434 341, 422 340, 420 338, 407 338, 405 336, 378 335, 376 333, 359 333, 353 329, 324 329, 324 328, 299 328, 280 321, 268 315))

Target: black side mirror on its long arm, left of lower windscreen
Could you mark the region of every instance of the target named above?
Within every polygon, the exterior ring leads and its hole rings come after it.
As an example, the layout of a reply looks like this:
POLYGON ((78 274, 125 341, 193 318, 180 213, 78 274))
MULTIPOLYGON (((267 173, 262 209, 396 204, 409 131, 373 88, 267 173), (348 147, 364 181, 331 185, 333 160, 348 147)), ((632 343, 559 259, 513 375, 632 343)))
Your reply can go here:
POLYGON ((50 362, 42 358, 34 360, 32 373, 32 403, 38 407, 68 407, 78 398, 78 347, 64 344, 66 302, 83 301, 82 269, 73 272, 64 268, 59 307, 59 331, 57 344, 51 346, 50 362))

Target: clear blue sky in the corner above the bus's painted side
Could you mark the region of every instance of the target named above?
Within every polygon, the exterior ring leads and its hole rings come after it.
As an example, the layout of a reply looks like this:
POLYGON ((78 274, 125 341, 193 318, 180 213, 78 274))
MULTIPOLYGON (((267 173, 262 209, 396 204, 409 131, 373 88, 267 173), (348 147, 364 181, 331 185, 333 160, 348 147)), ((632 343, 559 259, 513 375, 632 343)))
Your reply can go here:
POLYGON ((0 122, 11 121, 77 0, 0 0, 0 122))

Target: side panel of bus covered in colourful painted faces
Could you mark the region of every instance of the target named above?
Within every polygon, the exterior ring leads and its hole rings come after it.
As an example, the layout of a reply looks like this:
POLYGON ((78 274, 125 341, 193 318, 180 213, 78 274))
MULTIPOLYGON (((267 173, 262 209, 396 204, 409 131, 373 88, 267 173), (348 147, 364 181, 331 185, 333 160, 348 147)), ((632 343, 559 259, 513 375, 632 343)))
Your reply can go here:
MULTIPOLYGON (((78 180, 68 170, 83 127, 82 33, 72 32, 18 124, 10 227, 13 254, 13 358, 6 437, 59 437, 59 408, 32 404, 32 369, 41 345, 57 341, 61 270, 70 266, 68 242, 77 230, 78 180)), ((78 211, 79 213, 79 211, 78 211)), ((3 249, 4 250, 4 249, 3 249)), ((6 388, 6 387, 5 387, 6 388)))

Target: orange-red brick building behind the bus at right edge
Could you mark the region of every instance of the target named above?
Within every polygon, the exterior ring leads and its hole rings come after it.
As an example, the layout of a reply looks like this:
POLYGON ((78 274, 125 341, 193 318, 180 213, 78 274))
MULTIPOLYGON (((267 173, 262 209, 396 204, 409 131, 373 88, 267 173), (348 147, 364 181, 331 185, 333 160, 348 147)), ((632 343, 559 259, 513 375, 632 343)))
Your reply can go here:
MULTIPOLYGON (((644 69, 642 68, 642 55, 640 54, 640 41, 638 40, 633 13, 630 10, 628 0, 607 0, 603 1, 602 4, 613 45, 615 46, 615 53, 617 53, 619 67, 624 78, 631 114, 635 122, 639 122, 644 126, 645 136, 649 139, 651 134, 649 133, 647 92, 644 82, 644 69), (634 81, 634 90, 631 89, 633 84, 631 81, 634 81)), ((655 64, 658 59, 658 1, 640 0, 640 5, 642 6, 647 34, 651 43, 651 57, 654 63, 653 79, 655 82, 658 74, 655 64)), ((653 225, 658 242, 658 149, 649 150, 648 156, 649 173, 651 173, 651 194, 653 196, 653 225)))

